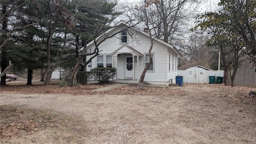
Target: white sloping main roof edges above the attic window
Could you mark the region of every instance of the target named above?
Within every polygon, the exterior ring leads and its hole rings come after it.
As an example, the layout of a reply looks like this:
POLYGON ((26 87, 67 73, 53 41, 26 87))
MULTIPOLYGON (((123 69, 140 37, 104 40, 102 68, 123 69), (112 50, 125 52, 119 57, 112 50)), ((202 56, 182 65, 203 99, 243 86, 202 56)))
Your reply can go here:
MULTIPOLYGON (((104 32, 104 34, 102 34, 101 36, 98 36, 97 38, 96 38, 96 40, 99 40, 100 38, 102 38, 102 36, 104 36, 104 35, 107 35, 108 33, 111 33, 111 32, 113 32, 114 30, 116 30, 117 28, 122 28, 122 27, 124 27, 124 26, 128 26, 129 27, 129 24, 127 23, 127 22, 124 22, 124 21, 120 21, 120 22, 118 22, 113 28, 110 28, 109 30, 107 30, 106 32, 104 32)), ((131 27, 132 28, 132 27, 131 27)), ((136 28, 132 28, 132 29, 134 29, 134 30, 136 30, 136 31, 138 31, 138 32, 140 32, 140 33, 142 33, 142 34, 144 34, 144 35, 146 35, 146 36, 148 36, 149 37, 149 34, 148 33, 146 33, 146 32, 144 32, 144 31, 142 31, 142 30, 138 30, 138 29, 136 29, 136 28)), ((158 38, 154 38, 156 41, 158 41, 158 42, 160 42, 160 43, 162 43, 162 44, 164 44, 164 45, 166 45, 166 46, 168 46, 169 48, 171 48, 176 54, 178 54, 179 56, 181 56, 182 54, 180 53, 180 51, 177 49, 177 48, 175 48, 174 46, 172 46, 172 45, 170 45, 170 44, 168 44, 168 43, 166 43, 166 42, 164 42, 164 41, 162 41, 162 40, 160 40, 160 39, 158 39, 158 38)), ((89 47, 89 46, 91 46, 92 44, 94 44, 94 41, 92 40, 91 42, 89 42, 87 45, 86 45, 86 47, 89 47)))

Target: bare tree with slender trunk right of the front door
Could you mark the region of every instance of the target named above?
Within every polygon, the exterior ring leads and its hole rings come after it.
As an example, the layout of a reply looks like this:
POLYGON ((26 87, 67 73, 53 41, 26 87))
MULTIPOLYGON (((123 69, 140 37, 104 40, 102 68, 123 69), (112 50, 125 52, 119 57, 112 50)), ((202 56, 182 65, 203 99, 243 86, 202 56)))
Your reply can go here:
MULTIPOLYGON (((191 16, 190 12, 186 11, 186 4, 193 0, 144 0, 140 6, 136 6, 138 20, 141 24, 148 28, 150 38, 149 56, 150 62, 144 68, 140 76, 140 89, 143 88, 144 77, 146 70, 152 64, 151 50, 156 38, 163 40, 168 44, 173 44, 179 39, 184 38, 184 25, 191 16)), ((187 29, 188 30, 188 29, 187 29)))

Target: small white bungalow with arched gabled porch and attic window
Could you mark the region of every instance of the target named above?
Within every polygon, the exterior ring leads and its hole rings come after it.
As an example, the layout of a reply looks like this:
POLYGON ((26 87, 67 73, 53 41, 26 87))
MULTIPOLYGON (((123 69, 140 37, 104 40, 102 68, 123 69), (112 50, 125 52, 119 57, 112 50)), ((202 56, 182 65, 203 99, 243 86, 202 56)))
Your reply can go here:
MULTIPOLYGON (((104 34, 114 34, 121 31, 112 38, 102 42, 99 48, 99 55, 92 59, 86 70, 90 71, 96 67, 114 67, 117 74, 113 78, 114 82, 136 82, 140 80, 142 71, 149 62, 150 38, 148 31, 128 28, 126 22, 121 21, 116 26, 104 34)), ((97 38, 99 39, 100 36, 97 38)), ((91 52, 95 48, 94 42, 86 46, 86 52, 91 52)), ((162 40, 155 39, 153 48, 153 64, 146 71, 144 82, 150 84, 169 85, 175 82, 177 74, 178 56, 180 51, 162 40)), ((87 60, 91 56, 87 56, 87 60)))

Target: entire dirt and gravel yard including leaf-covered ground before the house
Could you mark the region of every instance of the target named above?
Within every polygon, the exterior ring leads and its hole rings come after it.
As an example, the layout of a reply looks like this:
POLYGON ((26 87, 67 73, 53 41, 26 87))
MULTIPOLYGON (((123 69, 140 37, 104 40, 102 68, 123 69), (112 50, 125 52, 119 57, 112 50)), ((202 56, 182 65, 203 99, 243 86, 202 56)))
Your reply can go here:
POLYGON ((1 87, 0 143, 256 143, 252 88, 184 84, 138 90, 127 85, 88 91, 94 88, 1 87))

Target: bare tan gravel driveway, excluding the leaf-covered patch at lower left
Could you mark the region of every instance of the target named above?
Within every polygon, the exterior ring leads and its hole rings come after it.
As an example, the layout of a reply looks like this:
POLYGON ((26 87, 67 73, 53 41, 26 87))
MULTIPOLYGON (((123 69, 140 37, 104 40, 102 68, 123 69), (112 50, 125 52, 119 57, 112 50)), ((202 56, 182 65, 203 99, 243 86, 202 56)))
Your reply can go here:
MULTIPOLYGON (((76 127, 72 132, 67 131, 66 135, 58 139, 46 141, 47 138, 51 139, 51 133, 47 135, 39 131, 34 135, 37 137, 34 143, 256 143, 255 104, 234 102, 228 96, 234 92, 228 88, 179 88, 184 90, 183 94, 164 96, 2 92, 0 105, 49 110, 50 113, 76 119, 76 124, 69 123, 67 126, 76 127), (67 136, 73 139, 65 141, 64 137, 67 136)), ((29 140, 28 137, 22 137, 4 142, 28 143, 29 140)))

